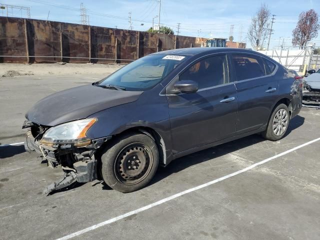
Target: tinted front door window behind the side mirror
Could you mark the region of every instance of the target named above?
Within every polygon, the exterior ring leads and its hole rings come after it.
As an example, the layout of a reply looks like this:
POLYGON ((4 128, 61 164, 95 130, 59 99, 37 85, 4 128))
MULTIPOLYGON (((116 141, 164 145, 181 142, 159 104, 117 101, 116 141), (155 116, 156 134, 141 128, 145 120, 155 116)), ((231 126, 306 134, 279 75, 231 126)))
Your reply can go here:
POLYGON ((207 88, 228 83, 226 55, 206 57, 187 68, 179 80, 192 80, 198 88, 207 88))

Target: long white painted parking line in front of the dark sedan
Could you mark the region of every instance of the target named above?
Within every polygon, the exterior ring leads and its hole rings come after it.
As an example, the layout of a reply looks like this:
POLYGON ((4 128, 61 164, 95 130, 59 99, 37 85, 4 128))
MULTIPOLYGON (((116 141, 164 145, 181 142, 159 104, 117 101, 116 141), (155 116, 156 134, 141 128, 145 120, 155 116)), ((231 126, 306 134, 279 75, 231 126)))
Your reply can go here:
POLYGON ((229 178, 229 177, 231 177, 231 176, 235 176, 235 175, 237 175, 237 174, 240 174, 240 173, 242 173, 242 172, 245 172, 245 171, 247 171, 247 170, 250 170, 250 169, 252 169, 252 168, 254 168, 254 167, 258 166, 258 165, 261 165, 261 164, 263 164, 263 163, 265 163, 265 162, 268 162, 268 161, 270 161, 270 160, 273 160, 273 159, 275 159, 275 158, 277 158, 277 157, 279 157, 279 156, 283 156, 283 155, 285 155, 285 154, 287 154, 287 153, 289 153, 289 152, 295 151, 295 150, 297 150, 297 149, 299 149, 299 148, 301 148, 301 147, 303 147, 303 146, 309 145, 309 144, 311 144, 311 143, 313 143, 313 142, 316 142, 316 141, 318 141, 318 140, 320 140, 320 137, 318 137, 318 138, 316 138, 316 139, 314 139, 314 140, 305 142, 305 143, 303 143, 303 144, 301 144, 301 145, 298 145, 298 146, 296 146, 296 147, 293 147, 293 148, 291 148, 291 149, 289 149, 289 150, 287 150, 287 151, 283 151, 283 152, 281 152, 281 153, 279 153, 279 154, 276 154, 276 155, 274 155, 274 156, 271 156, 271 157, 269 157, 269 158, 266 158, 266 159, 264 159, 264 160, 262 160, 262 161, 256 162, 256 163, 254 163, 254 164, 252 164, 252 165, 250 165, 250 166, 248 166, 248 167, 245 167, 245 168, 243 168, 243 169, 241 169, 241 170, 235 171, 235 172, 233 172, 233 173, 231 173, 231 174, 228 174, 228 175, 219 177, 219 178, 217 178, 217 179, 215 179, 215 180, 212 180, 212 181, 209 181, 209 182, 207 182, 207 183, 204 183, 204 184, 201 184, 201 185, 192 187, 192 188, 190 188, 190 189, 181 191, 181 192, 176 193, 176 194, 174 194, 174 195, 165 197, 165 198, 163 198, 163 199, 161 199, 161 200, 158 200, 158 201, 153 202, 153 203, 151 203, 151 204, 148 204, 148 205, 146 205, 146 206, 140 207, 140 208, 135 209, 135 210, 133 210, 133 211, 129 211, 129 212, 127 212, 127 213, 124 213, 124 214, 122 214, 122 215, 113 217, 113 218, 108 219, 108 220, 106 220, 106 221, 102 221, 102 222, 100 222, 100 223, 98 223, 98 224, 95 224, 95 225, 86 227, 86 228, 84 228, 84 229, 82 229, 82 230, 79 230, 79 231, 73 232, 73 233, 71 233, 71 234, 62 236, 62 237, 60 237, 60 238, 58 238, 58 239, 56 239, 56 240, 66 240, 66 239, 70 239, 70 238, 72 238, 72 237, 74 237, 74 236, 78 236, 78 235, 81 235, 81 234, 83 234, 83 233, 85 233, 85 232, 94 230, 94 229, 96 229, 96 228, 98 228, 98 227, 100 227, 100 226, 104 226, 104 225, 110 224, 110 223, 112 223, 112 222, 114 222, 114 221, 123 219, 123 218, 125 218, 125 217, 127 217, 127 216, 131 216, 131 215, 136 214, 136 213, 138 213, 138 212, 147 210, 147 209, 149 209, 149 208, 151 208, 151 207, 160 205, 160 204, 162 204, 162 203, 164 203, 164 202, 167 202, 167 201, 169 201, 169 200, 172 200, 172 199, 174 199, 174 198, 177 198, 177 197, 182 196, 182 195, 184 195, 184 194, 187 194, 187 193, 189 193, 189 192, 192 192, 192 191, 201 189, 201 188, 203 188, 203 187, 206 187, 206 186, 212 185, 212 184, 214 184, 214 183, 216 183, 216 182, 219 182, 219 181, 222 181, 222 180, 224 180, 224 179, 227 179, 227 178, 229 178))

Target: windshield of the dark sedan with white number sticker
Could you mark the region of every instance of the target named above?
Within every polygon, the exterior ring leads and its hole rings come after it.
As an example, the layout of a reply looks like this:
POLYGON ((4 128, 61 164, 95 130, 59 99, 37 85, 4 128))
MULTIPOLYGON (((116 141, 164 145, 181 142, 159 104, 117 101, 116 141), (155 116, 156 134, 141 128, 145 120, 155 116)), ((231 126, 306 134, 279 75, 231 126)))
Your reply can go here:
POLYGON ((137 59, 97 82, 98 86, 116 86, 125 90, 145 90, 155 86, 187 56, 154 54, 137 59))

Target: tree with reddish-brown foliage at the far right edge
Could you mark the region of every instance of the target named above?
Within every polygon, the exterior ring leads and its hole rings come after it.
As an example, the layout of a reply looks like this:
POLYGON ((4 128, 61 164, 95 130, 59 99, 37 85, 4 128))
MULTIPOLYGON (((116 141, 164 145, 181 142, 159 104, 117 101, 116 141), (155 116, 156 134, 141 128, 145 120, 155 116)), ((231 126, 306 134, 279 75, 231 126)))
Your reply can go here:
POLYGON ((317 37, 319 28, 318 14, 313 9, 302 11, 292 31, 293 46, 298 45, 300 49, 303 49, 308 41, 317 37))

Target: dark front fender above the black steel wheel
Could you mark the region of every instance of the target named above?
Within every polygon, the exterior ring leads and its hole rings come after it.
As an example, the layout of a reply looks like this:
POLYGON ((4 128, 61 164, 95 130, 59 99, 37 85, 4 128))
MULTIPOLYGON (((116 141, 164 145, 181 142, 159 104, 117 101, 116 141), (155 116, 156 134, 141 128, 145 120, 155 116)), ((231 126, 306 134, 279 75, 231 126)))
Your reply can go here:
MULTIPOLYGON (((154 100, 154 99, 153 99, 154 100)), ((116 135, 134 127, 149 127, 163 139, 165 146, 171 149, 170 121, 165 96, 156 97, 156 101, 138 100, 96 112, 88 117, 97 118, 86 132, 94 139, 116 135)))

